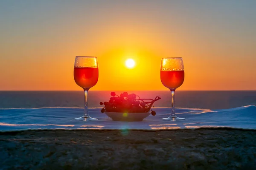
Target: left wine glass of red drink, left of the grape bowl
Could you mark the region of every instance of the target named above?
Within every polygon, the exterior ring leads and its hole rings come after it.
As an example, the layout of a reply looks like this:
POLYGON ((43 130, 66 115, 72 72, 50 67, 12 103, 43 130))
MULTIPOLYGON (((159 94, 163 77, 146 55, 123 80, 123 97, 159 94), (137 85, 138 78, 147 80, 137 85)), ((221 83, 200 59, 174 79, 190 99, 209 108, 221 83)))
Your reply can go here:
POLYGON ((98 82, 99 69, 97 57, 76 56, 74 65, 74 79, 77 85, 84 89, 84 115, 76 120, 98 120, 88 114, 88 91, 98 82))

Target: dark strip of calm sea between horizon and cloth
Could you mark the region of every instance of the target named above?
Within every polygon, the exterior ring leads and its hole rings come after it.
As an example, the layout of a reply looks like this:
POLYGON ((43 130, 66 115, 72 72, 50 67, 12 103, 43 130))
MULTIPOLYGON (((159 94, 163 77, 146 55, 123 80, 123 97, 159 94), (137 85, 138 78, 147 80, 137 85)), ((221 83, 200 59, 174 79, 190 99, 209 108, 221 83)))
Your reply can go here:
MULTIPOLYGON (((88 107, 99 108, 99 102, 108 101, 111 91, 89 91, 88 107)), ((121 94, 121 91, 116 94, 121 94)), ((140 98, 161 99, 154 107, 170 107, 170 91, 128 91, 140 98)), ((256 91, 176 91, 175 107, 228 109, 256 105, 256 91)), ((82 108, 83 91, 0 91, 0 108, 82 108)))

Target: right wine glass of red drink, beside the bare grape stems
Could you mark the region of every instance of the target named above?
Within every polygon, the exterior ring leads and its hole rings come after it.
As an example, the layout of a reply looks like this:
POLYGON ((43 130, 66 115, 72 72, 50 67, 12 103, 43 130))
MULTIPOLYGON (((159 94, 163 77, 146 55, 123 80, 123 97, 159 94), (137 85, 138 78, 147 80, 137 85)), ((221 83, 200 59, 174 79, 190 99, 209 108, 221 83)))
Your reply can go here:
POLYGON ((171 115, 162 120, 184 120, 185 118, 180 118, 175 115, 174 107, 174 92, 180 87, 184 81, 184 66, 183 60, 180 57, 172 58, 162 58, 161 60, 161 70, 160 77, 162 84, 169 88, 172 93, 172 110, 171 115))

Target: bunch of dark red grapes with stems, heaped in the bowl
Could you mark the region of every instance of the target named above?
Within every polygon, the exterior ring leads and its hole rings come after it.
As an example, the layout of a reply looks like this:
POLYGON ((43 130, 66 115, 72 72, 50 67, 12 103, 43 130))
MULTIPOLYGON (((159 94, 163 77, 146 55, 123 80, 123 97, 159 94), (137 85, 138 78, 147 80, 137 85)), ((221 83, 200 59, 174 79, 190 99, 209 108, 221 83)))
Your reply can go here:
POLYGON ((123 92, 120 96, 115 92, 111 92, 111 98, 108 102, 100 102, 100 105, 105 105, 101 110, 102 113, 107 112, 121 112, 121 113, 144 113, 151 110, 151 114, 156 115, 151 107, 154 107, 154 102, 161 99, 156 96, 155 99, 140 99, 136 94, 128 94, 123 92))

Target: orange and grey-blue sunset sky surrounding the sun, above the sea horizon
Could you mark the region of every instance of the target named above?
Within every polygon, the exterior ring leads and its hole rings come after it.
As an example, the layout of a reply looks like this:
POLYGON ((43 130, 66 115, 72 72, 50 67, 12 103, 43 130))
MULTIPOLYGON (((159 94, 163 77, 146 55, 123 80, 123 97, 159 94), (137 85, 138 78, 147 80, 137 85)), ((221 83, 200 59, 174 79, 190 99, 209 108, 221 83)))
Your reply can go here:
POLYGON ((178 90, 256 90, 255 9, 255 0, 0 1, 0 90, 80 91, 78 55, 98 58, 95 91, 167 90, 162 57, 183 57, 178 90))

